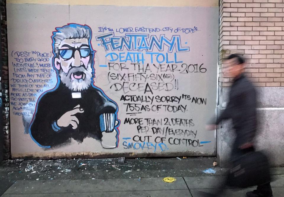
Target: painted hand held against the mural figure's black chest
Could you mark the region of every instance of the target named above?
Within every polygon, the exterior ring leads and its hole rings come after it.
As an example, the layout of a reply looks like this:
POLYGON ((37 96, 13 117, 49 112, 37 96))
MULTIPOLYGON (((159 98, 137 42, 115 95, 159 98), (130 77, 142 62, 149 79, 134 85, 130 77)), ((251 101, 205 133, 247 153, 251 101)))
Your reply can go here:
POLYGON ((75 106, 71 111, 63 114, 58 120, 57 125, 59 127, 68 127, 72 125, 72 129, 76 129, 79 124, 78 118, 75 116, 77 113, 83 113, 84 109, 80 108, 80 105, 75 106))

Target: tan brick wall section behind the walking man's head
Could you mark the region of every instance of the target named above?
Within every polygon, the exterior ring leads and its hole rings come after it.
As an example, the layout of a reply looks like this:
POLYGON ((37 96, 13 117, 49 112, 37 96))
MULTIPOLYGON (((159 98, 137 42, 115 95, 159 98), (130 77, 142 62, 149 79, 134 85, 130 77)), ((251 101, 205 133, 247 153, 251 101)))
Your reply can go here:
POLYGON ((284 86, 284 0, 220 0, 219 85, 228 54, 244 54, 246 75, 256 86, 284 86))

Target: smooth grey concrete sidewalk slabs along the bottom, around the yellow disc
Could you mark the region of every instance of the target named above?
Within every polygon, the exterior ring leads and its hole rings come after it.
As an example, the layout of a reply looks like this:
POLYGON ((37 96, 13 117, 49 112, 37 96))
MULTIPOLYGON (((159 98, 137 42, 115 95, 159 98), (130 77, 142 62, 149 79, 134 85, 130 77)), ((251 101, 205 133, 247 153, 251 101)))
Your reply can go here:
MULTIPOLYGON (((173 183, 165 183, 161 177, 122 179, 75 180, 17 180, 2 195, 20 196, 201 196, 199 191, 214 192, 223 176, 175 177, 173 183)), ((274 175, 274 197, 284 194, 284 175, 274 175)), ((224 196, 245 196, 254 188, 227 188, 224 196)))

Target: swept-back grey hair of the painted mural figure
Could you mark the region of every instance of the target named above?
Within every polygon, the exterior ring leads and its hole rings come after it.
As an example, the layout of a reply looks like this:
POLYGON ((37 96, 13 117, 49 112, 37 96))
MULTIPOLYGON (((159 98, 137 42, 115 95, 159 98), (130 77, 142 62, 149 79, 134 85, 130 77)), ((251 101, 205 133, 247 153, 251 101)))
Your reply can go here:
POLYGON ((87 38, 90 39, 91 29, 88 26, 70 24, 57 28, 53 33, 54 52, 59 57, 59 45, 64 39, 87 38))

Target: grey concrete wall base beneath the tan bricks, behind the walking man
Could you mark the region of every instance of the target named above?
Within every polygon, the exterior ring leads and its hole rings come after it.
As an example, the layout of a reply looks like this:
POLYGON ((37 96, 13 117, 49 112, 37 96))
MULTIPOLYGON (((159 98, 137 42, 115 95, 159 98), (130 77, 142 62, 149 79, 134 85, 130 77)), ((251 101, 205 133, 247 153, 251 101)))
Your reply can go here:
MULTIPOLYGON (((222 88, 223 104, 228 102, 229 88, 222 88)), ((284 148, 282 139, 284 134, 283 127, 283 87, 256 87, 258 92, 258 135, 256 137, 256 147, 258 150, 263 150, 270 156, 271 164, 273 166, 283 166, 284 158, 282 150, 284 148)), ((218 111, 225 109, 218 106, 218 111)), ((218 130, 217 154, 221 161, 227 160, 231 143, 234 139, 234 132, 230 121, 223 122, 218 130)))

